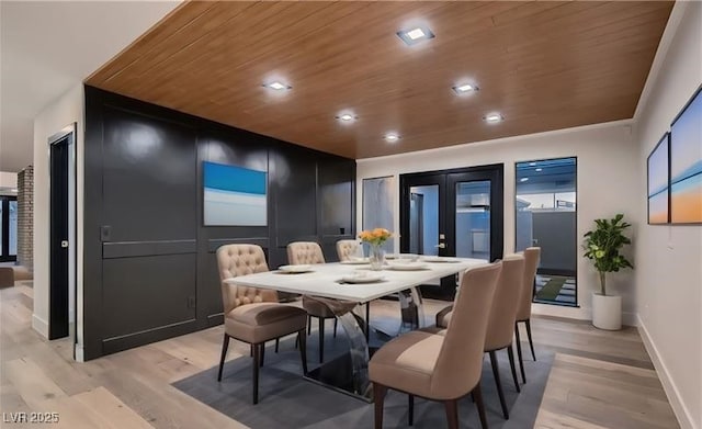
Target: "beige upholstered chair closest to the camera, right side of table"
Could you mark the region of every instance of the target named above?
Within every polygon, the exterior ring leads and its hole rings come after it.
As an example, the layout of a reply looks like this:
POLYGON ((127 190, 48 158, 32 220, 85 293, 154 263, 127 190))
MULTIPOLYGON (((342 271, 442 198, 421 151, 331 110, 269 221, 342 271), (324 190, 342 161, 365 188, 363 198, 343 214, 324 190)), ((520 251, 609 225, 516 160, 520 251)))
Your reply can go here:
MULTIPOLYGON (((383 402, 388 388, 441 400, 449 428, 458 427, 457 400, 473 392, 480 422, 487 427, 480 393, 485 335, 502 262, 469 269, 455 297, 445 335, 407 332, 383 346, 371 359, 375 428, 383 427, 383 402)), ((411 421, 410 421, 411 425, 411 421)))

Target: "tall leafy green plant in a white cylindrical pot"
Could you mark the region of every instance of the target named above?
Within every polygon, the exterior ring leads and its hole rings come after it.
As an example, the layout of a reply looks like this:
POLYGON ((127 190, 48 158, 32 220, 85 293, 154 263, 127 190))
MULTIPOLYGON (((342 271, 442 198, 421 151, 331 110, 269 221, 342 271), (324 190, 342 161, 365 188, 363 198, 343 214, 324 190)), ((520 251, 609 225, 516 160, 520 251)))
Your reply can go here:
POLYGON ((595 219, 596 228, 585 234, 585 257, 590 259, 600 274, 600 293, 592 293, 592 325, 600 329, 616 330, 622 327, 622 297, 607 294, 607 273, 634 268, 620 253, 632 241, 624 235, 631 224, 624 215, 612 219, 595 219))

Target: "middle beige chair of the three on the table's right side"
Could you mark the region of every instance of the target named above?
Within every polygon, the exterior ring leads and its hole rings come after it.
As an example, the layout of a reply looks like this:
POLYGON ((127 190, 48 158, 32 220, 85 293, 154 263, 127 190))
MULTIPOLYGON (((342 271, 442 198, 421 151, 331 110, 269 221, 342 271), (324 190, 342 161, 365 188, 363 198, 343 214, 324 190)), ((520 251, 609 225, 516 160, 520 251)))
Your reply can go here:
MULTIPOLYGON (((505 400, 502 383, 500 381, 499 366, 496 351, 507 349, 510 368, 512 370, 512 379, 517 392, 520 392, 519 382, 517 381, 517 369, 514 366, 514 353, 512 351, 512 338, 514 318, 517 317, 517 306, 519 305, 519 296, 522 289, 522 278, 524 273, 524 257, 521 255, 510 255, 502 260, 502 272, 497 282, 495 298, 492 300, 492 308, 490 309, 490 318, 487 325, 487 335, 485 336, 485 352, 490 355, 490 364, 492 365, 492 375, 495 384, 497 384, 497 393, 502 407, 502 415, 509 419, 509 411, 505 400)), ((442 312, 445 312, 442 311, 442 312)), ((437 326, 448 327, 453 312, 440 313, 437 315, 437 326)))

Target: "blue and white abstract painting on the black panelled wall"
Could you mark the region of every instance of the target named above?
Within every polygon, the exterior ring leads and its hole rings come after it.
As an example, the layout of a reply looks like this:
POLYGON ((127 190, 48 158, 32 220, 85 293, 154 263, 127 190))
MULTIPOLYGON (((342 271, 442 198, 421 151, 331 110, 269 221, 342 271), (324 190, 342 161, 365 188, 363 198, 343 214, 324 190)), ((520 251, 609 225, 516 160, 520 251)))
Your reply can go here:
POLYGON ((267 172, 203 162, 207 226, 265 226, 267 172))

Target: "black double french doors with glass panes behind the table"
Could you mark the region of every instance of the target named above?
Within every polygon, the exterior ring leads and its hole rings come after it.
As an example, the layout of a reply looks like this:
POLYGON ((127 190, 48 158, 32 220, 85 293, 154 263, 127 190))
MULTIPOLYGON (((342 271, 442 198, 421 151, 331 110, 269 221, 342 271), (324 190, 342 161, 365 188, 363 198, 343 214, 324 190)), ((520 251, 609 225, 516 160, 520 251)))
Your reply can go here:
MULTIPOLYGON (((502 258, 503 166, 400 176, 400 251, 428 256, 502 258)), ((450 298, 455 278, 429 295, 450 298)))

